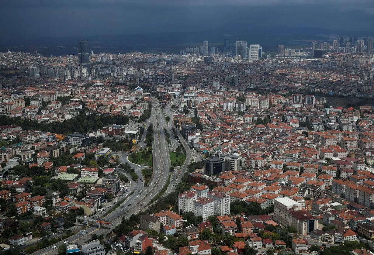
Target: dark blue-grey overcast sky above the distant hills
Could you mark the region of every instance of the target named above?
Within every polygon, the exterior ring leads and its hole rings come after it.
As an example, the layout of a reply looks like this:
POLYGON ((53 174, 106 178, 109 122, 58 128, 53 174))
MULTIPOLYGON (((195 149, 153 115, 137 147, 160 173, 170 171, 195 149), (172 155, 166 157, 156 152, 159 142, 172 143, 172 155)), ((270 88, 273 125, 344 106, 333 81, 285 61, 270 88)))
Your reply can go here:
POLYGON ((229 32, 232 24, 373 31, 373 15, 374 0, 2 0, 0 36, 229 32))

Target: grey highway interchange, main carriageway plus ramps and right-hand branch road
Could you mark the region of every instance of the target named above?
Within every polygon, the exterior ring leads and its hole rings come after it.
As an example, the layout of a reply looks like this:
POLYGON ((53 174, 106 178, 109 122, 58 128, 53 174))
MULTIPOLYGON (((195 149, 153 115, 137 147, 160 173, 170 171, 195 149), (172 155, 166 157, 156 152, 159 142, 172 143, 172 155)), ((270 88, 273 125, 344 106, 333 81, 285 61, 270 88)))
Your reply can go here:
MULTIPOLYGON (((161 106, 159 105, 158 100, 154 98, 152 98, 151 117, 147 121, 146 129, 148 128, 148 125, 150 123, 153 123, 153 137, 154 137, 154 141, 152 144, 153 146, 153 175, 152 175, 150 182, 148 183, 148 186, 144 187, 144 183, 141 183, 141 180, 140 180, 141 177, 140 177, 136 184, 132 183, 131 188, 128 192, 128 194, 130 194, 132 191, 134 193, 129 195, 127 199, 113 212, 103 217, 107 221, 110 221, 112 225, 102 225, 102 227, 99 228, 98 223, 92 224, 89 227, 85 228, 87 235, 81 234, 81 233, 74 234, 73 236, 67 238, 68 242, 77 242, 78 244, 80 244, 80 243, 84 243, 90 240, 93 234, 96 234, 98 236, 100 235, 105 236, 106 234, 110 233, 110 231, 113 230, 113 228, 117 224, 121 222, 123 216, 128 218, 129 216, 131 216, 132 213, 137 213, 145 209, 145 206, 151 201, 151 199, 159 193, 162 187, 166 185, 169 175, 171 174, 171 172, 169 172, 171 162, 170 162, 169 148, 168 148, 168 144, 166 141, 164 129, 170 130, 169 128, 171 128, 173 124, 172 124, 172 120, 170 121, 169 124, 167 123, 162 113, 161 106), (157 125, 157 123, 159 125, 157 125)), ((141 138, 142 141, 144 141, 145 135, 146 135, 146 132, 144 132, 141 138)), ((187 146, 186 141, 184 141, 180 133, 178 133, 178 139, 182 143, 183 147, 186 149, 186 152, 187 152, 186 161, 181 168, 179 168, 178 170, 174 172, 171 182, 169 183, 168 189, 165 192, 165 195, 169 194, 171 191, 174 190, 175 185, 180 181, 183 174, 186 172, 187 165, 191 162, 191 158, 193 157, 192 156, 193 152, 187 146)), ((120 162, 121 163, 128 162, 126 157, 127 157, 127 154, 123 154, 120 157, 120 162)), ((194 157, 194 160, 195 160, 195 157, 194 157)), ((130 165, 132 168, 135 169, 136 173, 139 176, 141 176, 142 167, 139 167, 138 165, 135 165, 133 163, 130 163, 130 165)), ((60 245, 63 245, 64 240, 56 243, 53 246, 59 247, 60 245)), ((49 246, 47 248, 34 252, 33 254, 34 255, 47 255, 47 254, 54 255, 54 254, 57 254, 57 248, 52 249, 52 246, 49 246)))

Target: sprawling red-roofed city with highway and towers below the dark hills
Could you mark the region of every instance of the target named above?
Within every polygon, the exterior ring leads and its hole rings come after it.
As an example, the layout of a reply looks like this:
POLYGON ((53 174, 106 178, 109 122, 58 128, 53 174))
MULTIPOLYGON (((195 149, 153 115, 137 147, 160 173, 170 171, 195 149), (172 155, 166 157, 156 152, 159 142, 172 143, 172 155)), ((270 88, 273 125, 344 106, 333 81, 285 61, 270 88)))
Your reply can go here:
POLYGON ((4 255, 374 255, 373 41, 0 53, 4 255))

